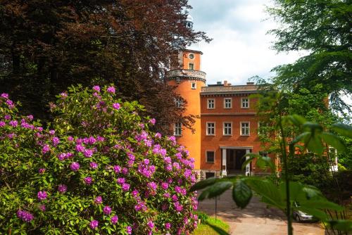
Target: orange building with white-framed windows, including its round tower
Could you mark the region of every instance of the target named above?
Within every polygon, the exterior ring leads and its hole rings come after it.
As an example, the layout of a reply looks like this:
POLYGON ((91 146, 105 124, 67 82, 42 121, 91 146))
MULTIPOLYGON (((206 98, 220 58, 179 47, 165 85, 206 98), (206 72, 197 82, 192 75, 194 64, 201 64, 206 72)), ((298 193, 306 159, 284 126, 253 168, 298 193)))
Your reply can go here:
MULTIPOLYGON (((206 86, 206 73, 201 71, 201 51, 184 49, 178 53, 179 67, 167 72, 168 83, 186 101, 185 115, 200 118, 195 132, 175 123, 177 142, 187 147, 195 159, 201 178, 227 174, 256 174, 252 164, 242 170, 246 153, 260 153, 256 99, 253 82, 233 86, 218 82, 206 86)), ((263 153, 262 153, 263 154, 263 153)))

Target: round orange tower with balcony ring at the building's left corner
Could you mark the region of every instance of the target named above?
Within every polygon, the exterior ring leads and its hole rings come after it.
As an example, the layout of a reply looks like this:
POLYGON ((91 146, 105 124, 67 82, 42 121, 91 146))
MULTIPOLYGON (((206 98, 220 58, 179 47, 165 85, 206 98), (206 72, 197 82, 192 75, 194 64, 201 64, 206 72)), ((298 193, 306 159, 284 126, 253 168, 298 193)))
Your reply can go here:
MULTIPOLYGON (((193 18, 187 15, 187 27, 193 27, 193 18)), ((174 134, 177 143, 182 144, 189 151, 189 157, 194 158, 194 169, 201 169, 201 87, 206 85, 206 73, 201 71, 201 51, 182 49, 178 51, 177 66, 166 73, 166 79, 170 86, 175 86, 175 93, 187 101, 184 115, 196 115, 193 128, 182 127, 181 123, 175 123, 174 134)))

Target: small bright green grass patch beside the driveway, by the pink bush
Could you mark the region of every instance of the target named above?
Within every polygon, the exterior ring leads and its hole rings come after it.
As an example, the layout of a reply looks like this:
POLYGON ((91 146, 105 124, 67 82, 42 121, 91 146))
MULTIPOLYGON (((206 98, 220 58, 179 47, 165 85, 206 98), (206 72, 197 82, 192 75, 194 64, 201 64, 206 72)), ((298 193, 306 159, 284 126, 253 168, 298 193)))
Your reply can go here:
POLYGON ((193 235, 228 235, 230 231, 229 224, 214 217, 207 217, 205 221, 199 224, 193 235))

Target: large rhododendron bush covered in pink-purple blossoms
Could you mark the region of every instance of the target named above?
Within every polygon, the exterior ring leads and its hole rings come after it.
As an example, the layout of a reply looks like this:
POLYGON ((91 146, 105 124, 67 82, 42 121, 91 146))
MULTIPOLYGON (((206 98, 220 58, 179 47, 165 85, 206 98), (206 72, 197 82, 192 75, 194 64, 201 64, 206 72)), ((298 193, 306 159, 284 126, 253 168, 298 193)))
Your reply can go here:
POLYGON ((114 87, 71 87, 43 129, 0 97, 0 234, 189 234, 194 160, 114 87))

